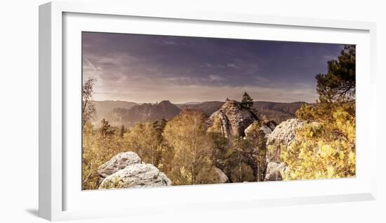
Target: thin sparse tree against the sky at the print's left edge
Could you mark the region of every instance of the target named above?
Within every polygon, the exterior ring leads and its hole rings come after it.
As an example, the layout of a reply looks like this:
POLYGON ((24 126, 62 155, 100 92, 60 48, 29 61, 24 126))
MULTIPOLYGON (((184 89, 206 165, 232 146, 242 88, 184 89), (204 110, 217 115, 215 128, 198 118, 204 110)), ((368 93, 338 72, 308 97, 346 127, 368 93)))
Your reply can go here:
POLYGON ((82 116, 82 129, 84 125, 95 118, 95 106, 93 104, 93 87, 96 79, 88 79, 82 85, 82 104, 81 104, 81 116, 82 116))

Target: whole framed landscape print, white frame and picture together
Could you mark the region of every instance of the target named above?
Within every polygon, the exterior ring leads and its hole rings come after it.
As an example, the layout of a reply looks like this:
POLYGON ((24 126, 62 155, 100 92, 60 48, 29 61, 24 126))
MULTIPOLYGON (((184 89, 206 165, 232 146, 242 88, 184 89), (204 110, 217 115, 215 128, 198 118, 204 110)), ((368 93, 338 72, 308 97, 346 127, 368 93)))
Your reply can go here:
POLYGON ((40 6, 39 216, 374 199, 374 32, 371 22, 40 6))

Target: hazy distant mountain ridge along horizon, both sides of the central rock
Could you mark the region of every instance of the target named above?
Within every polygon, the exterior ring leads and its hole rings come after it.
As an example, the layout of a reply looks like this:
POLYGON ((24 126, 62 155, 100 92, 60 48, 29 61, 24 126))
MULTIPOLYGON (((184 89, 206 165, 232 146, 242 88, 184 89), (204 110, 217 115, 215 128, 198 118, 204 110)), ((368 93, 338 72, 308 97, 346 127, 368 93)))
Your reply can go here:
MULTIPOLYGON (((125 101, 95 101, 97 119, 95 124, 100 123, 100 119, 107 119, 113 125, 133 126, 135 123, 146 123, 157 121, 162 118, 173 119, 180 114, 184 108, 199 110, 211 116, 218 111, 225 102, 187 102, 183 104, 173 104, 168 100, 159 103, 135 103, 125 101)), ((255 113, 259 119, 269 119, 277 123, 292 119, 295 112, 306 102, 253 102, 255 113)))

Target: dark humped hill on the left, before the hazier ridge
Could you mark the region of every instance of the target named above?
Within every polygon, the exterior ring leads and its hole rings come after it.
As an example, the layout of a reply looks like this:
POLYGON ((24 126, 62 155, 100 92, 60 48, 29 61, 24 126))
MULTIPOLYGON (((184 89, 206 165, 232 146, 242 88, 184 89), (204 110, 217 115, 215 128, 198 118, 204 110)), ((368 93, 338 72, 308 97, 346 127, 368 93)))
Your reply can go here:
POLYGON ((180 108, 168 100, 156 104, 137 104, 130 109, 113 109, 113 121, 133 126, 135 123, 153 122, 159 119, 173 119, 180 114, 180 108))

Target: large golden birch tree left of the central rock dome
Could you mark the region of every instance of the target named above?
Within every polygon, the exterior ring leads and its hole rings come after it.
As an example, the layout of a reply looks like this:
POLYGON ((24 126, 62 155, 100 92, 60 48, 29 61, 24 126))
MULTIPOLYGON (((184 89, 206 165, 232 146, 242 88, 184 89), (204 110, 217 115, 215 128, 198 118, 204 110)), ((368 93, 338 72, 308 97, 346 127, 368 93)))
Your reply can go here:
POLYGON ((166 124, 163 136, 173 158, 164 170, 175 185, 211 183, 213 142, 205 122, 203 113, 185 110, 166 124))

